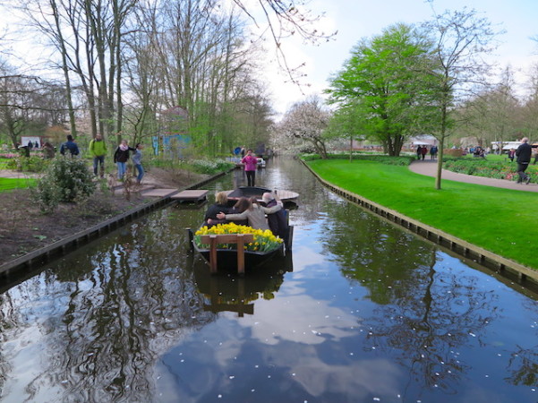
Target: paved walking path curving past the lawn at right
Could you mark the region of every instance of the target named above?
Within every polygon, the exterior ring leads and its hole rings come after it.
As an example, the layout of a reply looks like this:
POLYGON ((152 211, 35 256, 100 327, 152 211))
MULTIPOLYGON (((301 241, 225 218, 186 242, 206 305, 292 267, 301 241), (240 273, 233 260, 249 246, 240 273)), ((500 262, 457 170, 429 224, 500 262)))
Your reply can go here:
MULTIPOLYGON (((409 169, 415 174, 425 176, 437 176, 437 159, 424 159, 423 161, 414 161, 409 166, 409 169)), ((530 184, 517 184, 514 181, 505 179, 494 179, 491 177, 473 176, 465 174, 457 174, 456 172, 443 169, 441 180, 446 179, 455 182, 465 182, 466 184, 483 184, 484 186, 502 187, 504 189, 513 189, 524 192, 538 192, 538 184, 533 183, 538 178, 532 178, 530 184)), ((441 184, 442 185, 442 184, 441 184)))

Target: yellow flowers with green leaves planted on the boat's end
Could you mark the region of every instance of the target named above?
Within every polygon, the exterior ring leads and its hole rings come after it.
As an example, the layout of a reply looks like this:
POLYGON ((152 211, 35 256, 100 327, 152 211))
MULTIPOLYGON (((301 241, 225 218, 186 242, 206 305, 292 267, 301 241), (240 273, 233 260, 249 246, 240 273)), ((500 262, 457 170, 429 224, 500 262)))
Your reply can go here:
MULTIPOLYGON (((248 226, 238 226, 235 223, 218 224, 213 227, 201 227, 194 233, 194 242, 201 249, 208 249, 209 244, 201 243, 202 235, 221 235, 221 234, 252 234, 254 240, 245 244, 245 251, 251 252, 270 252, 277 249, 282 244, 282 239, 274 236, 269 229, 263 231, 248 226)), ((218 249, 237 249, 237 244, 218 244, 218 249)))

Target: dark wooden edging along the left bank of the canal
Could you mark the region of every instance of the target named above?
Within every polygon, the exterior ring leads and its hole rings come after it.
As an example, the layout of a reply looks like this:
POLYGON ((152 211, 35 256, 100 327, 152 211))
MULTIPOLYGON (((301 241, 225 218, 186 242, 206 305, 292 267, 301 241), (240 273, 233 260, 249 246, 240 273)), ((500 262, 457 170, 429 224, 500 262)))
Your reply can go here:
MULTIPOLYGON (((230 170, 235 169, 232 168, 230 170)), ((196 184, 191 184, 180 189, 190 190, 196 189, 203 184, 207 184, 219 176, 226 175, 226 172, 221 172, 217 175, 210 176, 207 179, 204 179, 196 184)), ((149 201, 139 207, 136 207, 132 210, 125 211, 124 213, 115 216, 112 219, 107 219, 104 222, 99 223, 96 226, 87 228, 81 232, 73 234, 72 236, 67 236, 66 238, 60 239, 53 244, 48 244, 42 248, 36 249, 30 253, 27 253, 19 258, 13 259, 13 261, 5 262, 0 265, 0 276, 9 275, 17 270, 29 269, 32 266, 43 264, 50 261, 53 258, 72 252, 71 246, 80 246, 82 244, 87 244, 90 241, 97 239, 99 236, 104 236, 109 232, 117 229, 118 227, 123 226, 127 222, 132 221, 132 219, 138 219, 143 215, 148 214, 150 211, 158 210, 167 205, 174 204, 176 201, 173 201, 168 195, 162 197, 157 201, 149 201)))

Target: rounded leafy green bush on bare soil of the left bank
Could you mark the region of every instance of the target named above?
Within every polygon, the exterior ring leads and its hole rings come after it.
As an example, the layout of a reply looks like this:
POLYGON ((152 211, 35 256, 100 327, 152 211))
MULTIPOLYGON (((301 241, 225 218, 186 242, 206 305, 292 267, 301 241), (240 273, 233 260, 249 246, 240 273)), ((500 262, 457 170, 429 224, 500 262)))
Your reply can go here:
POLYGON ((95 192, 96 184, 82 159, 53 159, 38 181, 35 199, 44 213, 56 210, 60 201, 82 202, 95 192))

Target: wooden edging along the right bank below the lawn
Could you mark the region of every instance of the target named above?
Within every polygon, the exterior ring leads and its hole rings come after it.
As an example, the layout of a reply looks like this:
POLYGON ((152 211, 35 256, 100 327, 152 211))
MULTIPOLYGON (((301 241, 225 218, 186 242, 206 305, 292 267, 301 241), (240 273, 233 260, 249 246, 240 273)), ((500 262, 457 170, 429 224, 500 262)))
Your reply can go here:
POLYGON ((491 270, 498 272, 502 271, 512 271, 517 274, 517 277, 520 280, 531 279, 534 282, 538 283, 538 271, 528 268, 520 263, 511 261, 505 257, 502 257, 496 253, 487 251, 480 246, 475 244, 470 244, 463 239, 457 238, 456 236, 451 236, 440 229, 430 227, 422 222, 411 219, 396 210, 390 210, 385 206, 382 206, 374 201, 359 196, 358 194, 351 193, 346 189, 342 189, 334 184, 330 184, 323 178, 321 178, 316 172, 312 170, 303 160, 303 165, 307 167, 313 176, 320 181, 321 184, 328 187, 332 192, 339 194, 340 196, 346 198, 348 201, 353 201, 364 209, 371 210, 383 217, 388 219, 390 222, 398 224, 401 227, 405 227, 414 234, 418 236, 423 236, 429 241, 440 244, 448 248, 451 252, 457 253, 465 258, 474 259, 475 262, 482 264, 482 266, 488 267, 491 270))

